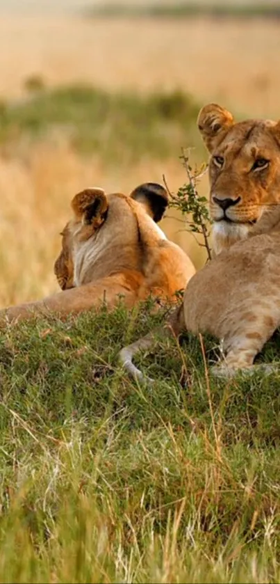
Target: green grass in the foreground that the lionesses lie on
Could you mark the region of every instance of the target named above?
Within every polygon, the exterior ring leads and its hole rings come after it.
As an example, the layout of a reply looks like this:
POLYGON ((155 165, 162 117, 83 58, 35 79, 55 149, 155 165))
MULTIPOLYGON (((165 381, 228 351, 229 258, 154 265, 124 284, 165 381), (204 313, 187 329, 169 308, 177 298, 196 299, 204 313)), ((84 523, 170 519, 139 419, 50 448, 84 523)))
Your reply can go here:
POLYGON ((197 339, 159 340, 138 386, 117 352, 152 308, 1 333, 1 582, 279 582, 279 374, 208 386, 197 339))

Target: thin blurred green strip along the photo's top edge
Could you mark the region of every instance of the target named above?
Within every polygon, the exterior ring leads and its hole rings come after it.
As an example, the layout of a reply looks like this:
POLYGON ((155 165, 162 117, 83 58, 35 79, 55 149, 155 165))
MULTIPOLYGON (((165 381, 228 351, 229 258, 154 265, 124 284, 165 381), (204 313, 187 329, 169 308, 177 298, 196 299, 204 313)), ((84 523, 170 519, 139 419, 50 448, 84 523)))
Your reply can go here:
POLYGON ((235 2, 170 2, 170 3, 104 3, 84 10, 91 17, 165 17, 190 18, 197 16, 226 18, 279 18, 280 6, 277 2, 235 3, 235 2))

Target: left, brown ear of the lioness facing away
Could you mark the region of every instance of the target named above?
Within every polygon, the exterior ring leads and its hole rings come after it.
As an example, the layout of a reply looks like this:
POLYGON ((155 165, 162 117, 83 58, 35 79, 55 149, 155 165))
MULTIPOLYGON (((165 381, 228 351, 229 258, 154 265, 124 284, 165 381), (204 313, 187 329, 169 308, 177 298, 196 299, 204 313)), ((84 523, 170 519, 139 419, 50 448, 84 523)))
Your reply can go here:
POLYGON ((76 219, 82 221, 83 225, 97 228, 105 221, 108 200, 103 189, 85 189, 74 196, 71 205, 76 219))

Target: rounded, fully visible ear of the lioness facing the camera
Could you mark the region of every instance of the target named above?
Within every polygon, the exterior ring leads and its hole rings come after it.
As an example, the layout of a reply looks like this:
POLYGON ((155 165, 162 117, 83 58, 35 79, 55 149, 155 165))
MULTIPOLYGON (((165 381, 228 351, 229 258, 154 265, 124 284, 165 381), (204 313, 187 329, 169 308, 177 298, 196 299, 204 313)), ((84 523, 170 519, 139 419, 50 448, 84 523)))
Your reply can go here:
POLYGON ((199 111, 197 126, 210 153, 232 125, 233 116, 220 105, 208 104, 199 111))

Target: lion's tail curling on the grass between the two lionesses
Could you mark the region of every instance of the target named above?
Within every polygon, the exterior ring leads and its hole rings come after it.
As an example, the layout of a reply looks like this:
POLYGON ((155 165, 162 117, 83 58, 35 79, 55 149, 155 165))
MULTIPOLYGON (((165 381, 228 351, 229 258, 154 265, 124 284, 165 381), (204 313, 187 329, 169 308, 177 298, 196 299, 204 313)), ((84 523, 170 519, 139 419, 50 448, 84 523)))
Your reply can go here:
POLYGON ((174 313, 167 320, 164 326, 159 326, 151 333, 148 333, 145 337, 136 340, 131 345, 124 347, 119 353, 120 362, 126 371, 129 372, 131 377, 138 379, 138 381, 153 381, 149 377, 145 376, 140 369, 133 365, 133 357, 136 353, 142 350, 150 349, 155 342, 156 334, 160 335, 160 338, 177 337, 184 330, 185 322, 183 317, 183 304, 174 310, 174 313))

